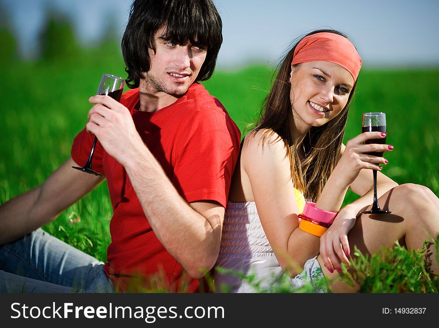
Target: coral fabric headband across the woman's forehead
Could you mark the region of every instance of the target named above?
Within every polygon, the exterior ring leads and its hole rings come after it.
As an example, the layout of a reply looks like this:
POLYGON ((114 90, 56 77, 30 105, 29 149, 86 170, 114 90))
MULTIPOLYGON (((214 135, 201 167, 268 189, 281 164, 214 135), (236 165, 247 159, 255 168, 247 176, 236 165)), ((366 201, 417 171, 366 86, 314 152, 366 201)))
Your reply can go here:
POLYGON ((294 50, 291 65, 309 61, 330 61, 347 69, 354 81, 361 68, 361 57, 355 46, 346 37, 320 32, 305 36, 294 50))

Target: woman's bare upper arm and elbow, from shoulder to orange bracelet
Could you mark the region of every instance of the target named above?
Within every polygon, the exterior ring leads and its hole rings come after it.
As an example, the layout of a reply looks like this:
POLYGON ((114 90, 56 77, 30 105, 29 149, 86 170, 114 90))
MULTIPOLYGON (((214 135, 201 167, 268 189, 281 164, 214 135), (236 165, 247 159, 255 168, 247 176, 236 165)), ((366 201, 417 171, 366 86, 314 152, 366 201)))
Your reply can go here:
POLYGON ((262 142, 263 132, 245 138, 241 162, 265 235, 282 269, 294 277, 318 254, 320 242, 297 229, 299 208, 284 143, 277 134, 262 142))

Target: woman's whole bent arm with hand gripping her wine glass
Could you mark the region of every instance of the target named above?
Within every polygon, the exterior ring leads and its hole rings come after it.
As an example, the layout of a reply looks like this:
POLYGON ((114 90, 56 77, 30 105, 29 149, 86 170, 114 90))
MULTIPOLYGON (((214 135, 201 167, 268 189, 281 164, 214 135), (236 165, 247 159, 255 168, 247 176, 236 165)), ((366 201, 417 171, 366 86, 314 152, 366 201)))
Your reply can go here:
MULTIPOLYGON (((321 252, 320 239, 297 229, 299 208, 284 143, 277 134, 262 140, 263 133, 264 131, 258 131, 245 138, 241 161, 250 181, 265 235, 282 269, 294 275, 297 271, 291 270, 288 257, 297 264, 298 267, 294 269, 303 267, 309 258, 319 253, 319 249, 321 252)), ((349 141, 347 151, 344 149, 343 156, 317 201, 317 208, 337 212, 348 187, 359 176, 360 171, 363 168, 377 169, 373 163, 385 163, 383 158, 365 155, 367 152, 383 151, 385 145, 363 145, 367 139, 379 136, 379 132, 367 132, 349 141)), ((353 226, 350 223, 349 220, 338 220, 338 224, 344 228, 339 232, 339 244, 345 236, 347 243, 347 233, 353 226)), ((344 253, 340 247, 339 249, 341 256, 344 253)), ((342 261, 349 263, 346 256, 342 261)), ((334 263, 334 267, 335 264, 338 263, 334 263)))

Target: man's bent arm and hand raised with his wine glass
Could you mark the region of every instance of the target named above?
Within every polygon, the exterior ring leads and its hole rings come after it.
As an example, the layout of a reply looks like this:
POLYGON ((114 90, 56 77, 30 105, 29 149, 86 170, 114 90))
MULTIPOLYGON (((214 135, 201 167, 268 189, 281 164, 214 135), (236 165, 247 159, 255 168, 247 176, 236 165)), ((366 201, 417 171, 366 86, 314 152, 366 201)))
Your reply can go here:
POLYGON ((128 109, 93 96, 86 129, 122 164, 155 235, 193 278, 202 277, 219 254, 224 208, 214 201, 189 205, 143 143, 128 109))

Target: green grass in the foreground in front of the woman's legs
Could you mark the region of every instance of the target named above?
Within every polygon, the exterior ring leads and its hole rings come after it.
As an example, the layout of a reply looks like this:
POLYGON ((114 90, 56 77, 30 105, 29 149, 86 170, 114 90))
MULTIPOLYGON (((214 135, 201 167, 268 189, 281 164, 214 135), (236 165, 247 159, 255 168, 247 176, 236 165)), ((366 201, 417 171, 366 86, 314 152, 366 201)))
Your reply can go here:
MULTIPOLYGON (((425 261, 426 255, 433 260, 433 250, 436 250, 436 261, 439 261, 438 242, 439 235, 436 246, 426 242, 421 250, 409 252, 396 242, 394 248, 381 248, 373 255, 363 255, 355 246, 355 257, 351 259, 350 268, 342 264, 342 275, 331 280, 315 275, 312 282, 306 281, 300 287, 292 286, 286 275, 280 279, 272 277, 273 281, 267 287, 267 282, 258 280, 255 275, 246 276, 223 268, 218 268, 218 271, 240 278, 252 287, 254 293, 315 293, 325 290, 331 293, 331 288, 339 281, 351 287, 358 285, 360 293, 439 293, 439 279, 430 277, 430 267, 425 261)), ((221 286, 221 291, 227 293, 229 288, 221 286)))

